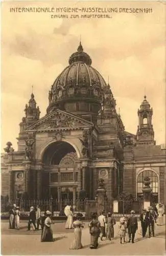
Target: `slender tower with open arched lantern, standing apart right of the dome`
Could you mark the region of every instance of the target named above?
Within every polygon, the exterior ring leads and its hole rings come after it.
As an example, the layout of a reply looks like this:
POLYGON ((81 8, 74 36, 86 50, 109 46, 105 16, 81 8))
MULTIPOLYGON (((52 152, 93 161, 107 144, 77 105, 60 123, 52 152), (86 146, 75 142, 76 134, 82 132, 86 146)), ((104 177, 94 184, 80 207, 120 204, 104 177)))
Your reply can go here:
POLYGON ((144 101, 138 109, 139 125, 136 133, 137 144, 155 144, 152 125, 153 110, 144 96, 144 101))

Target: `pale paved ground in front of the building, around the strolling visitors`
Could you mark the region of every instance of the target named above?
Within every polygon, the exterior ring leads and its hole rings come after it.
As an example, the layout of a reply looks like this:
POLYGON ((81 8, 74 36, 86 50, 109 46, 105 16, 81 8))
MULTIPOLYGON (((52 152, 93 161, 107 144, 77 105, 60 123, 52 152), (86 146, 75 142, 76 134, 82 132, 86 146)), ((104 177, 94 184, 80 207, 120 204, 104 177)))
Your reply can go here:
MULTIPOLYGON (((115 238, 112 241, 100 241, 97 250, 89 249, 90 235, 86 228, 82 230, 81 250, 70 250, 73 241, 73 230, 66 230, 65 223, 52 225, 55 242, 41 243, 39 231, 27 231, 25 221, 20 230, 8 229, 8 223, 2 222, 2 254, 3 255, 164 255, 165 254, 165 226, 156 226, 155 238, 141 238, 137 232, 135 243, 120 244, 118 238, 118 224, 114 227, 115 238)), ((140 225, 140 224, 139 224, 140 225)), ((139 229, 139 228, 138 228, 139 229)))

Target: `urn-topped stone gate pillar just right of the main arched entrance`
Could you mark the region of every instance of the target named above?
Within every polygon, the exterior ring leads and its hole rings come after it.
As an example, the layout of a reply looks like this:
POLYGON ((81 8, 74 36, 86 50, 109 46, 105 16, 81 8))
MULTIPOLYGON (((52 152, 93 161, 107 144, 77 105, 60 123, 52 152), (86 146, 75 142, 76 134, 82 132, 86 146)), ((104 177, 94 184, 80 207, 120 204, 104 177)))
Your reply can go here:
POLYGON ((107 211, 107 197, 106 197, 106 189, 103 185, 104 180, 99 180, 99 188, 97 189, 97 211, 98 215, 100 215, 100 211, 107 211))

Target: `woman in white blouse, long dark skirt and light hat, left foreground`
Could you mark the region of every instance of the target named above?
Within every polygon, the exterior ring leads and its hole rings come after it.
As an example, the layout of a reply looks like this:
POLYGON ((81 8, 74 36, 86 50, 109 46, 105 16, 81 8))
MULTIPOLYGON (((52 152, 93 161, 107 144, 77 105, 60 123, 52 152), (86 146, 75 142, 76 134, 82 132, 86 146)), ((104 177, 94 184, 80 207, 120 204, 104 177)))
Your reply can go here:
POLYGON ((53 239, 53 231, 51 229, 51 219, 50 216, 52 215, 51 211, 46 211, 46 219, 44 221, 44 227, 41 232, 41 242, 54 242, 53 239))

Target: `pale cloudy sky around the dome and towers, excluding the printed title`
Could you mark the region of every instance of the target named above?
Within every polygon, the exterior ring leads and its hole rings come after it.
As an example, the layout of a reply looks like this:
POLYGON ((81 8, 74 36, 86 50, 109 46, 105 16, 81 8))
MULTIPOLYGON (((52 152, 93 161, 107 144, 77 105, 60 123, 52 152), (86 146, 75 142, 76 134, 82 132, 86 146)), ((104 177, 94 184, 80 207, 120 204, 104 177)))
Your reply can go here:
POLYGON ((109 83, 125 129, 136 133, 146 92, 157 144, 165 143, 165 5, 160 2, 2 3, 2 145, 17 150, 19 123, 34 88, 41 117, 48 93, 68 65, 81 34, 84 51, 109 83), (112 13, 103 19, 57 19, 49 13, 10 13, 10 7, 152 8, 152 13, 112 13))

